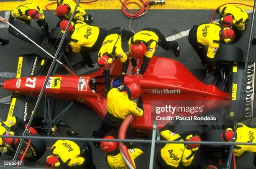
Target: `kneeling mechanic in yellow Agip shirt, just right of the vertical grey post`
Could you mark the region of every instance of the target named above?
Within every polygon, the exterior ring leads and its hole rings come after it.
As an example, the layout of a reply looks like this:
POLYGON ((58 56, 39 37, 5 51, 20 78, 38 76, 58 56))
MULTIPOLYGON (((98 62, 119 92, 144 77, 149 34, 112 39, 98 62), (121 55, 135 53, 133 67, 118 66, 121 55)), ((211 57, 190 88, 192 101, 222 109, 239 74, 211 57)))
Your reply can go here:
MULTIPOLYGON (((168 123, 161 129, 161 136, 168 141, 180 141, 183 139, 179 134, 175 134, 169 130, 168 123)), ((187 136, 185 141, 200 142, 197 136, 187 136)), ((172 144, 168 143, 157 154, 156 162, 161 169, 176 169, 183 167, 184 169, 200 169, 201 166, 194 167, 192 160, 194 159, 194 151, 197 151, 200 144, 172 144)))

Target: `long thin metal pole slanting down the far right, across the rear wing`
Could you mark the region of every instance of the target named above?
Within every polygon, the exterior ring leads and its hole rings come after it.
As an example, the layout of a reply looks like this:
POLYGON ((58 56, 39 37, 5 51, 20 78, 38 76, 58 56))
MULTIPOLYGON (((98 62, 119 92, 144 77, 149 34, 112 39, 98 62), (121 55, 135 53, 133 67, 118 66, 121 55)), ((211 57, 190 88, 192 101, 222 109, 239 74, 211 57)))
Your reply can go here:
MULTIPOLYGON (((238 125, 238 118, 239 118, 239 115, 240 115, 240 112, 241 112, 243 88, 244 88, 244 83, 246 81, 246 70, 247 70, 247 66, 248 66, 248 58, 249 58, 250 47, 251 47, 251 35, 252 35, 252 31, 253 31, 255 7, 256 7, 256 0, 254 0, 254 4, 253 4, 253 14, 252 14, 252 20, 251 20, 251 30, 250 30, 248 47, 247 47, 247 53, 246 53, 246 62, 245 62, 245 65, 244 65, 244 74, 243 74, 242 87, 241 87, 241 92, 240 92, 240 100, 239 100, 239 103, 238 103, 238 114, 237 114, 236 121, 235 121, 234 135, 233 135, 232 142, 236 141, 236 129, 237 129, 237 125, 238 125)), ((230 169, 232 155, 233 155, 233 149, 234 149, 234 145, 231 145, 230 151, 229 151, 229 156, 228 156, 227 169, 230 169)))

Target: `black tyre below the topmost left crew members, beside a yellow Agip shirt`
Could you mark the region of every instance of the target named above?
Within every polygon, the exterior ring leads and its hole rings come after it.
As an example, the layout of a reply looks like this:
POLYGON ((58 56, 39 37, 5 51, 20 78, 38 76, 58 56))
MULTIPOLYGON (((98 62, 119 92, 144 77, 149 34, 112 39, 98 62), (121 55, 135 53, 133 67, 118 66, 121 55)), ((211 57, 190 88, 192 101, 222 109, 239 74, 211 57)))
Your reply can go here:
MULTIPOLYGON (((49 34, 48 43, 52 47, 58 48, 62 36, 63 34, 61 33, 61 29, 59 27, 54 27, 49 34)), ((69 43, 70 37, 71 36, 69 34, 65 36, 64 42, 62 44, 63 47, 69 43)))

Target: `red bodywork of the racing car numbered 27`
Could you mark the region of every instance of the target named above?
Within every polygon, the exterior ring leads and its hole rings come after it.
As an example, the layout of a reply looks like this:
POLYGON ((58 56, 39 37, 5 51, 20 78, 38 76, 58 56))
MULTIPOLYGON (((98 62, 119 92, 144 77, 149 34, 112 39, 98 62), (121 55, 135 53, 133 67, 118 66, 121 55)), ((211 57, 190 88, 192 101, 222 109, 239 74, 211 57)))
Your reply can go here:
MULTIPOLYGON (((121 65, 120 60, 114 60, 111 66, 112 77, 120 75, 121 65)), ((131 68, 132 66, 129 65, 127 75, 125 76, 125 84, 133 81, 134 77, 131 76, 131 68)), ((81 102, 92 108, 100 117, 105 117, 105 86, 101 70, 91 75, 77 77, 65 75, 51 77, 54 77, 55 80, 52 79, 48 82, 44 94, 59 99, 81 102), (84 77, 84 79, 81 77, 84 77)), ((40 76, 5 80, 3 88, 20 94, 30 94, 32 92, 33 95, 38 95, 45 78, 45 76, 40 76)), ((134 129, 152 129, 152 100, 198 100, 199 102, 201 100, 230 100, 229 93, 220 91, 214 85, 202 83, 184 65, 165 57, 153 57, 150 60, 148 69, 139 84, 142 88, 141 96, 144 114, 143 117, 134 117, 132 122, 134 129), (166 89, 173 91, 173 93, 164 93, 166 89)))

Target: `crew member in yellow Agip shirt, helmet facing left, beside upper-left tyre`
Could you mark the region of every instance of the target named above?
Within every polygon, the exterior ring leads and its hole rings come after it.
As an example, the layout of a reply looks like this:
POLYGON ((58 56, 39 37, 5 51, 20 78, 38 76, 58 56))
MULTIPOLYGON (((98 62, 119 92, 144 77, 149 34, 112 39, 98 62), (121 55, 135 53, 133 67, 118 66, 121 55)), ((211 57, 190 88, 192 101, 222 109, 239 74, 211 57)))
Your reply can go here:
MULTIPOLYGON (((67 20, 60 22, 61 30, 66 30, 68 25, 67 20)), ((67 52, 80 52, 84 61, 82 65, 85 67, 94 67, 90 52, 100 50, 103 40, 106 36, 106 30, 99 27, 87 25, 84 22, 77 21, 75 25, 70 25, 68 33, 71 35, 70 43, 67 45, 67 52)))

